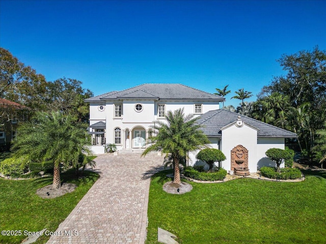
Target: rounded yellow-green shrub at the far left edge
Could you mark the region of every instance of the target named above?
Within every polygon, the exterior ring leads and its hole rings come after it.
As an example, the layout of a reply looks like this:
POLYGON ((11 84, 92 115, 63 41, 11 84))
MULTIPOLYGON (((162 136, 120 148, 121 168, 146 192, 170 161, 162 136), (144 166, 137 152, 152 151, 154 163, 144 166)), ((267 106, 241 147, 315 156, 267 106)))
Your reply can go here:
POLYGON ((26 156, 12 157, 0 163, 0 172, 7 176, 19 177, 28 171, 30 160, 26 156))

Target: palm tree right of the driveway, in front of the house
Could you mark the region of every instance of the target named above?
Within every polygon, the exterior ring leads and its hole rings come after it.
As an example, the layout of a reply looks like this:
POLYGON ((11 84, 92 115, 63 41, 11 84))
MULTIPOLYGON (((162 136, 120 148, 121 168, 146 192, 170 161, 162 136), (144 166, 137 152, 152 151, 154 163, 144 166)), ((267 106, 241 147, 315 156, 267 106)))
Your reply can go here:
POLYGON ((187 157, 188 151, 199 150, 210 143, 206 135, 196 125, 197 118, 192 114, 184 115, 183 108, 172 112, 167 111, 166 121, 156 120, 152 129, 155 136, 147 141, 147 147, 142 156, 150 151, 162 151, 170 154, 174 163, 174 184, 181 184, 179 163, 183 157, 187 157))

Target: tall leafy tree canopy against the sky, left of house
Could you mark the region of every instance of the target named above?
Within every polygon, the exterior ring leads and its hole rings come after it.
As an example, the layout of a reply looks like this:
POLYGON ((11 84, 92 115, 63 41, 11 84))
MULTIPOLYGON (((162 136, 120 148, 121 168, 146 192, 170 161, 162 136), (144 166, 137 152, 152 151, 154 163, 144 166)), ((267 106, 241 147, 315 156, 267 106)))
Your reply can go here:
POLYGON ((92 96, 89 89, 82 87, 81 81, 70 78, 46 81, 42 74, 0 48, 0 98, 29 107, 29 116, 36 111, 62 111, 87 121, 89 105, 84 99, 92 96))

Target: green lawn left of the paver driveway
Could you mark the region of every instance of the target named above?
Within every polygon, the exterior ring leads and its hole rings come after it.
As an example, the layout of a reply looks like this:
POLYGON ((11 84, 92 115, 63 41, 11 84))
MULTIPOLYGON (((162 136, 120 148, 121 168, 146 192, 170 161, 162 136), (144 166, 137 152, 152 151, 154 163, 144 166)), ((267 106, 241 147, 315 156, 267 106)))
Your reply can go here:
MULTIPOLYGON (((84 171, 87 177, 77 179, 74 171, 61 174, 64 182, 78 187, 74 192, 54 199, 42 199, 36 190, 52 184, 52 177, 25 180, 0 179, 0 230, 55 231, 80 199, 88 192, 99 175, 84 171)), ((45 243, 49 236, 41 236, 35 243, 45 243)), ((20 243, 26 236, 3 236, 0 243, 20 243)))

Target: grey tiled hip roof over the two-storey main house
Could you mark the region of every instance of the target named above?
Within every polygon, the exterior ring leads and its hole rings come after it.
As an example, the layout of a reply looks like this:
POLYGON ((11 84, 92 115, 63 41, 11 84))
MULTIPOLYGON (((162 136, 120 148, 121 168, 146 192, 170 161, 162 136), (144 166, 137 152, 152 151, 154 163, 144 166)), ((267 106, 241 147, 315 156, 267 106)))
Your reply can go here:
POLYGON ((203 92, 182 84, 142 84, 122 90, 120 92, 110 92, 93 98, 88 98, 86 102, 96 102, 103 100, 117 99, 156 99, 156 100, 211 100, 224 101, 223 97, 203 92))

